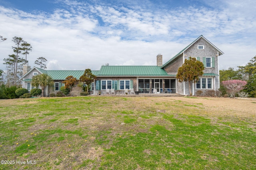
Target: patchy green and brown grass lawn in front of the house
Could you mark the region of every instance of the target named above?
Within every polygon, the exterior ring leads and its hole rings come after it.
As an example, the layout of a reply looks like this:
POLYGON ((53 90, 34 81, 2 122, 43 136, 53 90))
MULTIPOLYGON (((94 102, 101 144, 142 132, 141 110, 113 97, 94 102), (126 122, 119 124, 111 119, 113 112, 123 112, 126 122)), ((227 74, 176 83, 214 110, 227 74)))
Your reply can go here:
POLYGON ((256 169, 253 99, 0 100, 0 129, 4 170, 256 169))

